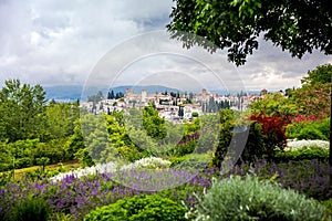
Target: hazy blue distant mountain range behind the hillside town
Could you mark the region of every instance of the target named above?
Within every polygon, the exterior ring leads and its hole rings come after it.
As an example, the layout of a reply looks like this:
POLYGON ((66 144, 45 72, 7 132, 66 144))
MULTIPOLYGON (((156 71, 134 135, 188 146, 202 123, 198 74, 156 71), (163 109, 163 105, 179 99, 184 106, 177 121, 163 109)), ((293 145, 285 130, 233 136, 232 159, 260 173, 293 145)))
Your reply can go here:
MULTIPOLYGON (((83 92, 83 85, 68 85, 68 86, 44 86, 44 91, 46 92, 46 98, 48 99, 55 99, 55 101, 86 101, 87 96, 96 94, 98 91, 101 91, 104 96, 107 96, 107 92, 113 91, 114 93, 122 92, 125 94, 126 88, 129 88, 136 94, 141 94, 142 90, 146 90, 148 94, 155 94, 155 93, 170 93, 170 92, 179 92, 184 93, 184 91, 178 88, 172 88, 167 86, 162 85, 148 85, 148 86, 135 86, 135 85, 125 85, 125 86, 115 86, 111 88, 106 87, 87 87, 83 92)), ((226 91, 210 91, 216 94, 225 95, 229 92, 226 91)), ((187 92, 189 93, 189 92, 187 92)), ((194 93, 200 93, 200 91, 194 91, 194 93)), ((258 91, 250 91, 247 92, 249 94, 259 94, 258 91)))

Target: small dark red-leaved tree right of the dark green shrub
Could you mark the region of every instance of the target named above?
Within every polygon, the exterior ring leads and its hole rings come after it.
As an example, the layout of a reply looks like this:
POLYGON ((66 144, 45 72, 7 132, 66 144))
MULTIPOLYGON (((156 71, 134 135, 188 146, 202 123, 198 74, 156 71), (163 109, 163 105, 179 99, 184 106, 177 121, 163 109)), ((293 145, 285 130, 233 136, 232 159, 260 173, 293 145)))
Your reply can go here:
POLYGON ((280 116, 279 114, 267 116, 262 112, 258 115, 252 115, 250 119, 261 124, 266 154, 269 158, 273 156, 277 147, 283 150, 287 145, 286 126, 289 124, 289 120, 286 117, 280 116))

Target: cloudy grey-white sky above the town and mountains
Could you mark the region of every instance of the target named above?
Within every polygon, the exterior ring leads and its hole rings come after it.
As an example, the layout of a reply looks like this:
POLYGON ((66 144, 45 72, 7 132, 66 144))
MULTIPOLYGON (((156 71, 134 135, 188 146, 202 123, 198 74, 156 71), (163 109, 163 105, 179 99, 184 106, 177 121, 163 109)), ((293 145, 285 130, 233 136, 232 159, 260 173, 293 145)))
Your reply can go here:
POLYGON ((332 63, 320 52, 292 59, 269 42, 241 67, 222 51, 185 50, 165 32, 172 7, 172 0, 0 0, 0 84, 284 90, 332 63))

